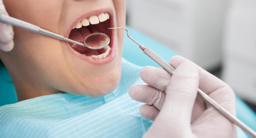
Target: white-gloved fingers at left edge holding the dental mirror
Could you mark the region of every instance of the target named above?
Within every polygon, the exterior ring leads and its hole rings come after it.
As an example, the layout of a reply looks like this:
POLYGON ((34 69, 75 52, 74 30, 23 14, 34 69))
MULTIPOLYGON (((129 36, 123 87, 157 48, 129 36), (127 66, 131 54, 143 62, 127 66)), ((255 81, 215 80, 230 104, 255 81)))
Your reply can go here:
MULTIPOLYGON (((4 3, 0 0, 0 14, 8 15, 4 3)), ((3 51, 10 51, 14 46, 12 26, 0 22, 0 49, 3 51)))

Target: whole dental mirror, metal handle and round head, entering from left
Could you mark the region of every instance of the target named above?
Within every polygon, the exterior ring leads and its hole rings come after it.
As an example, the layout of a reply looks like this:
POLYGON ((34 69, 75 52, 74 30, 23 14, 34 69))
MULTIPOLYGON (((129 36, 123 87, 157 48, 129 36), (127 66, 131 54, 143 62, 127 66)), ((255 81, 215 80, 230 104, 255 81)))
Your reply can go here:
POLYGON ((87 47, 87 48, 90 48, 90 49, 105 48, 110 43, 110 38, 106 34, 103 34, 103 33, 93 33, 91 35, 88 35, 84 39, 84 44, 82 44, 80 42, 77 42, 77 41, 71 40, 69 38, 66 38, 62 35, 50 32, 50 31, 45 30, 45 29, 42 29, 39 26, 36 26, 34 24, 31 24, 31 23, 28 23, 28 22, 25 22, 25 21, 21 21, 19 19, 7 16, 7 15, 1 14, 0 15, 0 21, 4 22, 4 23, 7 23, 7 24, 17 26, 17 27, 20 27, 20 28, 23 28, 23 29, 26 29, 26 30, 29 30, 29 31, 32 31, 32 32, 48 35, 48 36, 51 36, 51 37, 54 37, 54 38, 57 38, 57 39, 60 39, 60 40, 65 40, 65 41, 68 41, 68 42, 71 42, 71 43, 74 43, 74 44, 78 44, 80 46, 87 47))

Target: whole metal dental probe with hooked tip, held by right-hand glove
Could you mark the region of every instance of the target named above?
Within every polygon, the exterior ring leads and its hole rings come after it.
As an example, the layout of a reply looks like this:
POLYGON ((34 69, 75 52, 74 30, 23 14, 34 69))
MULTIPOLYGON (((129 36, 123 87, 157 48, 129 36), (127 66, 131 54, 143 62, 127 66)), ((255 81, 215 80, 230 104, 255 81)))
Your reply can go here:
MULTIPOLYGON (((164 68, 170 75, 173 75, 175 68, 167 63, 163 58, 161 58, 158 54, 156 54, 153 50, 151 50, 148 47, 145 47, 138 42, 136 42, 132 37, 129 36, 129 31, 123 27, 116 27, 116 28, 108 28, 108 29, 124 29, 127 31, 127 36, 132 39, 137 45, 139 45, 139 48, 148 55, 153 61, 155 61, 157 64, 159 64, 161 67, 164 68)), ((251 128, 249 128, 246 124, 244 124, 241 120, 236 118, 234 115, 232 115, 230 112, 228 112, 225 108, 223 108, 220 104, 218 104, 216 101, 214 101, 211 97, 209 97, 205 92, 203 92, 200 89, 197 89, 197 95, 201 97, 204 101, 206 101, 208 104, 212 105, 216 110, 218 110, 223 116, 227 117, 230 121, 235 123, 237 126, 239 126, 243 131, 247 132, 250 136, 256 138, 256 132, 253 131, 251 128)))

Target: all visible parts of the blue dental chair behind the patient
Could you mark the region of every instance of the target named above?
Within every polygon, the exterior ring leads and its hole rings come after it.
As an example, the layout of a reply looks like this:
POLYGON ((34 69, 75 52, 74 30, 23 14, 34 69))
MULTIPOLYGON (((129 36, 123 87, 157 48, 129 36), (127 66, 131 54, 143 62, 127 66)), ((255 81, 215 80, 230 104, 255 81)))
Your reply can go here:
MULTIPOLYGON (((175 52, 161 45, 160 43, 152 40, 151 38, 127 27, 130 35, 139 43, 151 48, 161 57, 163 57, 167 62, 169 59, 177 55, 175 52)), ((156 66, 160 67, 158 64, 153 62, 149 57, 147 57, 138 46, 125 37, 123 46, 123 57, 139 66, 156 66), (132 54, 131 54, 132 53, 132 54)), ((0 66, 0 106, 5 104, 13 104, 17 102, 17 96, 15 88, 13 86, 12 80, 5 67, 0 66)), ((236 115, 237 117, 247 124, 250 128, 256 131, 256 114, 245 104, 240 98, 236 97, 236 115)))

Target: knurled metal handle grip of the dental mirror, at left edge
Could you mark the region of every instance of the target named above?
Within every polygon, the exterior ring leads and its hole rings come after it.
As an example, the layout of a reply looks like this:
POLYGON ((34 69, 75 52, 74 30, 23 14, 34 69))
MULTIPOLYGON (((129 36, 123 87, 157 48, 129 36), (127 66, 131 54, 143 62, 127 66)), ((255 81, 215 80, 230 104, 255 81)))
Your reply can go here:
POLYGON ((0 15, 0 21, 5 22, 7 24, 17 26, 17 27, 21 27, 23 29, 27 29, 27 30, 30 30, 30 31, 33 31, 33 32, 40 31, 40 27, 38 27, 34 24, 31 24, 31 23, 28 23, 28 22, 25 22, 25 21, 21 21, 19 19, 15 19, 13 17, 3 15, 3 14, 0 15))

